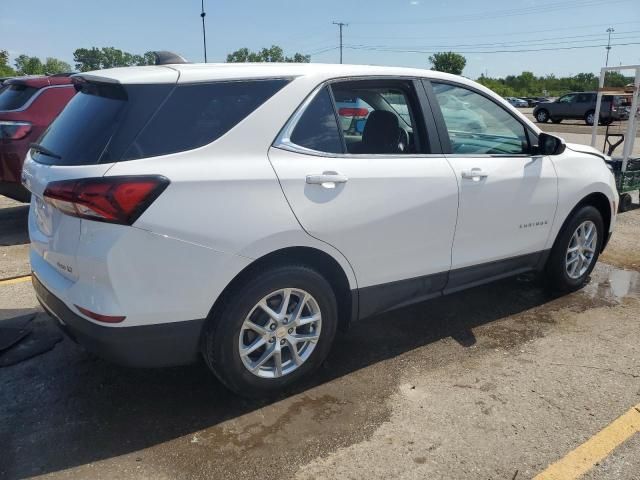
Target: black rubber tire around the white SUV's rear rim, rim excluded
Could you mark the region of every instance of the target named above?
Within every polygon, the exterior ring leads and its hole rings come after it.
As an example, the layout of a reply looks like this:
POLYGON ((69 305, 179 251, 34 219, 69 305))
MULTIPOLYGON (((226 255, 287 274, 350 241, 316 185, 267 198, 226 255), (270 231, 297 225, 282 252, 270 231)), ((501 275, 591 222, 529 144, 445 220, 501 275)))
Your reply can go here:
POLYGON ((250 398, 269 397, 311 374, 327 357, 338 324, 335 294, 327 280, 304 265, 276 267, 260 272, 223 300, 208 319, 202 353, 211 371, 229 390, 250 398), (309 358, 289 374, 262 378, 249 371, 240 358, 240 331, 245 318, 266 295, 281 288, 299 288, 317 301, 322 315, 320 337, 309 358))

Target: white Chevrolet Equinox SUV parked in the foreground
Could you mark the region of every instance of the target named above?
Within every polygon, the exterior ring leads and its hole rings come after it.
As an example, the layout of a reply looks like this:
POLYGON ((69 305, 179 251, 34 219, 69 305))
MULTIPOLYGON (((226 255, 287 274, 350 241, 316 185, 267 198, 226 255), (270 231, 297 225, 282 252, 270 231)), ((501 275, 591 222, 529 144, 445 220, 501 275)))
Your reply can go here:
POLYGON ((614 227, 601 154, 461 77, 187 64, 76 88, 24 165, 33 282, 119 363, 202 354, 277 391, 362 318, 527 271, 579 288, 614 227))

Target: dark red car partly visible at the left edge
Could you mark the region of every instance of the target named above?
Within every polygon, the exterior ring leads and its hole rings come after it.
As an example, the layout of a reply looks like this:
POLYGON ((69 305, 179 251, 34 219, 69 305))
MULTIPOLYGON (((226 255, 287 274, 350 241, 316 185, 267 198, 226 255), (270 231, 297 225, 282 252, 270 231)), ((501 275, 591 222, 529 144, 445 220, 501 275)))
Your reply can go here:
POLYGON ((0 195, 29 201, 20 182, 29 144, 37 142, 75 93, 68 74, 12 78, 0 86, 0 195))

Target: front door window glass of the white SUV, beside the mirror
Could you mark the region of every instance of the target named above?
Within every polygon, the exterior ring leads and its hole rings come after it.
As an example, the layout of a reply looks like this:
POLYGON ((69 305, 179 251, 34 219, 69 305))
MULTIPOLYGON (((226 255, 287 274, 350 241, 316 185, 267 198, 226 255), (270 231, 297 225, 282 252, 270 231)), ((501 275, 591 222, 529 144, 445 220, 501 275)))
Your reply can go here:
POLYGON ((524 154, 524 125, 487 97, 464 87, 432 82, 451 148, 459 155, 524 154))

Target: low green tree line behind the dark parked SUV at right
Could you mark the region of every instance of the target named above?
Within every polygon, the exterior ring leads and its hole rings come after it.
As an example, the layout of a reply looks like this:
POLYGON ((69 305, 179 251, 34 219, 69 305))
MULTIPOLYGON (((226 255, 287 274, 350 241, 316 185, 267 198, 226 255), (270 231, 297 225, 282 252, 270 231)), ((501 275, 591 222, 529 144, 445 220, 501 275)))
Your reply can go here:
MULTIPOLYGON (((621 87, 633 81, 618 72, 609 72, 605 77, 607 87, 621 87)), ((491 78, 481 75, 478 82, 503 97, 557 97, 568 92, 594 91, 598 88, 598 77, 593 73, 578 73, 571 77, 547 75, 537 77, 531 72, 491 78)))

